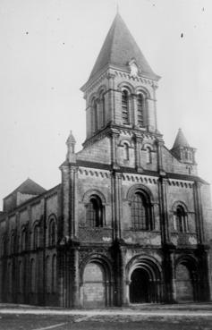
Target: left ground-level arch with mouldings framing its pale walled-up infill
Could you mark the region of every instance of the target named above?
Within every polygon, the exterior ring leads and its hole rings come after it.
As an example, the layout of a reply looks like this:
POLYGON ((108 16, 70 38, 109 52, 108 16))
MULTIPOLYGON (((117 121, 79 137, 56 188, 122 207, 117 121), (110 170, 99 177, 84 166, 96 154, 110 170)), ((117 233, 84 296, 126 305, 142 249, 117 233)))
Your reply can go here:
POLYGON ((81 267, 81 307, 112 305, 111 267, 105 258, 93 256, 81 267))

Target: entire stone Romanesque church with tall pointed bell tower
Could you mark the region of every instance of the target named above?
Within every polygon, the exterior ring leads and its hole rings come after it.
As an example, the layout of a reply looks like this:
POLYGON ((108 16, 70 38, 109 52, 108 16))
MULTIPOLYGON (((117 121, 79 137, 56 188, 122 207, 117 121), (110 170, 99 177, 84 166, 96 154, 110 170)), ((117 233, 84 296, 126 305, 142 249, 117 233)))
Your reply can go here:
POLYGON ((1 301, 67 308, 211 299, 209 185, 181 130, 157 129, 157 82, 120 14, 89 80, 86 140, 62 180, 30 179, 0 213, 1 301))

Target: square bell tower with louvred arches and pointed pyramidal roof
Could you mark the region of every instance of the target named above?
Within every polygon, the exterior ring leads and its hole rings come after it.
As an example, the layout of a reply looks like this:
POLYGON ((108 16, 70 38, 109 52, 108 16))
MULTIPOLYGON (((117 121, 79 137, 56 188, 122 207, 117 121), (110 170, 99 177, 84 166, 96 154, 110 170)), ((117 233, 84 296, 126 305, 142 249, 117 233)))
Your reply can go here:
POLYGON ((159 78, 117 13, 89 80, 81 88, 86 99, 85 145, 109 127, 157 134, 159 78))

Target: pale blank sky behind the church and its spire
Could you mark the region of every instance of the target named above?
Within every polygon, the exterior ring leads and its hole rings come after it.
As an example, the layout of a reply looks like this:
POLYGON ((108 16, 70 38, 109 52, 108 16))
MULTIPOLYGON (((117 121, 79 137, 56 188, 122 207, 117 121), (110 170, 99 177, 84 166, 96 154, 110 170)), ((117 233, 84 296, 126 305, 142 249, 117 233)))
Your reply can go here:
MULTIPOLYGON (((158 128, 171 148, 179 127, 212 183, 212 3, 119 0, 152 69, 158 128)), ((0 0, 0 199, 30 177, 60 182, 72 130, 85 140, 88 80, 116 12, 115 0, 0 0)))

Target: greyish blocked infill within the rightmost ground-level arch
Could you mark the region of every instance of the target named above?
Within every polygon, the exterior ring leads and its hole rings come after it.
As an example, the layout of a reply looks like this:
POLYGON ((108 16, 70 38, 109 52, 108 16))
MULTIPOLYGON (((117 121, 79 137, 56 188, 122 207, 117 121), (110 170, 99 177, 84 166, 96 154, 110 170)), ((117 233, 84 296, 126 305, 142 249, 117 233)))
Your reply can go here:
POLYGON ((194 285, 191 268, 182 262, 176 267, 176 300, 179 302, 194 300, 194 285))

